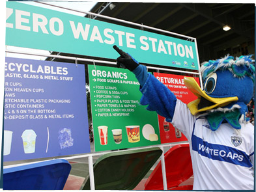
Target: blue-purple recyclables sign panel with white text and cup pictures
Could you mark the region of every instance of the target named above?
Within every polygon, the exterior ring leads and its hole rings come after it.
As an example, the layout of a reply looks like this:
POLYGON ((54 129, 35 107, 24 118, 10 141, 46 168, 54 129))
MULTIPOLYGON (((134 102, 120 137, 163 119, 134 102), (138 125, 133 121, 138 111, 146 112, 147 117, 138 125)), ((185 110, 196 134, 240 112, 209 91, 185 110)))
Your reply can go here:
POLYGON ((84 66, 7 57, 4 161, 90 150, 84 66))

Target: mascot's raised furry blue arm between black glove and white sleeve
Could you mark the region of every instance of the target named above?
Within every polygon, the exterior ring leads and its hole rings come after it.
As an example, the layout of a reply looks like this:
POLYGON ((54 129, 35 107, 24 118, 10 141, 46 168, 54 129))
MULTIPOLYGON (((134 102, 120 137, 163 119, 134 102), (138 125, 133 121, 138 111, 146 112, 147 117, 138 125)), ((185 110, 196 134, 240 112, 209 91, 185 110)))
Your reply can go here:
POLYGON ((143 94, 141 105, 148 105, 147 110, 156 111, 171 122, 177 101, 173 92, 150 73, 140 91, 143 94))

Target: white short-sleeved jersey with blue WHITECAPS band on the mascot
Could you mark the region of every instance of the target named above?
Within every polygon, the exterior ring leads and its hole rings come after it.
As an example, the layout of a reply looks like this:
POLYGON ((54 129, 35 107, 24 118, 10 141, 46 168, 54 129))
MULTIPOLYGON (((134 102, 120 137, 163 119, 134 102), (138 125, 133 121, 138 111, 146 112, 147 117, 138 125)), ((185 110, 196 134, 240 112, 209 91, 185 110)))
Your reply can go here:
POLYGON ((236 130, 225 123, 212 131, 205 118, 193 116, 180 100, 171 123, 190 143, 193 190, 253 189, 253 125, 241 124, 242 128, 236 130))

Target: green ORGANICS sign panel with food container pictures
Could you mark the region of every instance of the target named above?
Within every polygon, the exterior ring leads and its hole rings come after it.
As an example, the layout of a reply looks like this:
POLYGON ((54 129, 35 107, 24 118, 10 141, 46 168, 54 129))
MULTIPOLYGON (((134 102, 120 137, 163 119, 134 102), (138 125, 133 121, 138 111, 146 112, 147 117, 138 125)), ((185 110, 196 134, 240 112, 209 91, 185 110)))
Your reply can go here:
POLYGON ((139 104, 142 96, 129 70, 88 65, 95 151, 160 144, 156 112, 139 104))

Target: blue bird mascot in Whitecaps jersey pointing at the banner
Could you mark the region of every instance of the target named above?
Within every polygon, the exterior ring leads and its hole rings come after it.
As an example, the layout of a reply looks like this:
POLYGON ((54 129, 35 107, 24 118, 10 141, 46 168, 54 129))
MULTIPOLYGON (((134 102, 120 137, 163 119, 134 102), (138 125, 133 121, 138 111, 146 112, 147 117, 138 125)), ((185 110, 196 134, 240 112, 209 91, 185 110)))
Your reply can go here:
POLYGON ((190 143, 193 190, 254 189, 254 127, 246 118, 255 68, 249 56, 204 62, 203 90, 192 77, 184 83, 197 100, 188 105, 121 49, 117 66, 135 74, 140 103, 182 131, 190 143))

